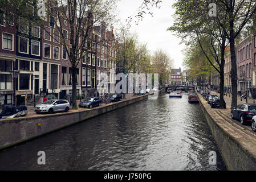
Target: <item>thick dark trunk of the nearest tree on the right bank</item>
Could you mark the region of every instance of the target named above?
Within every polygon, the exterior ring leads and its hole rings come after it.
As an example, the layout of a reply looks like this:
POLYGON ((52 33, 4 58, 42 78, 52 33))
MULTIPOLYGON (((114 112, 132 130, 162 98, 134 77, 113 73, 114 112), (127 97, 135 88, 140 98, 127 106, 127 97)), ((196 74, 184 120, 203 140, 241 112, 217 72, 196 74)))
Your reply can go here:
MULTIPOLYGON (((230 30, 233 30, 233 27, 230 27, 230 30)), ((234 32, 230 31, 230 56, 231 56, 231 93, 232 93, 232 101, 231 108, 237 107, 237 61, 235 57, 235 38, 234 32)))

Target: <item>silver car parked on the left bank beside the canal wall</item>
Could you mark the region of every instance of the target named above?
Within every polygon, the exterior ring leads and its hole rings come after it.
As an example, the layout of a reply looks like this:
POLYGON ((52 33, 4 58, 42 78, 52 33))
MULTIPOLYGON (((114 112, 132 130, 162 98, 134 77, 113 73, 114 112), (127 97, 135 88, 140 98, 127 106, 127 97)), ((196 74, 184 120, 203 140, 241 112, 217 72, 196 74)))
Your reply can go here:
POLYGON ((52 114, 57 111, 66 111, 70 110, 70 104, 66 100, 48 100, 43 104, 35 106, 36 113, 48 113, 52 114))

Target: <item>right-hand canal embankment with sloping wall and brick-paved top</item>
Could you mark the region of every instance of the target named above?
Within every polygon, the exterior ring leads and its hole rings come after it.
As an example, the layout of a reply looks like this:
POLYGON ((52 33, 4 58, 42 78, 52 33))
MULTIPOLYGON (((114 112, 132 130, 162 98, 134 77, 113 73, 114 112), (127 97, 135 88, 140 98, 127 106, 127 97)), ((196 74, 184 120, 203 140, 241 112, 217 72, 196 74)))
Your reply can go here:
POLYGON ((256 134, 230 118, 229 106, 224 110, 212 109, 197 95, 227 169, 256 170, 256 134))

